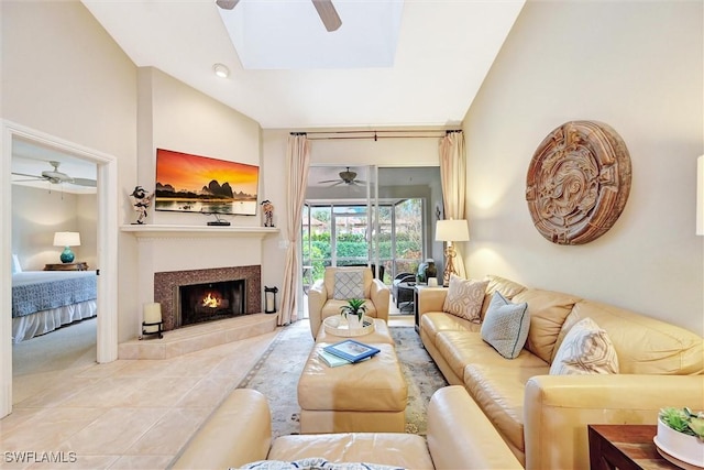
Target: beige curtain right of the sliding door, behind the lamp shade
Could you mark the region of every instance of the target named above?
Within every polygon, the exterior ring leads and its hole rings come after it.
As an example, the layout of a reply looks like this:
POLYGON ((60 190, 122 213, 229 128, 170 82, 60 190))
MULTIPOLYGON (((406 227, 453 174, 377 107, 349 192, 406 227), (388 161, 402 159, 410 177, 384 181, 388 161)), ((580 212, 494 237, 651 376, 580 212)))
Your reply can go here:
MULTIPOLYGON (((462 131, 449 131, 440 141, 440 179, 442 181, 444 218, 465 219, 466 153, 462 131)), ((460 276, 466 277, 461 250, 457 245, 454 249, 458 253, 454 259, 454 267, 460 276)))

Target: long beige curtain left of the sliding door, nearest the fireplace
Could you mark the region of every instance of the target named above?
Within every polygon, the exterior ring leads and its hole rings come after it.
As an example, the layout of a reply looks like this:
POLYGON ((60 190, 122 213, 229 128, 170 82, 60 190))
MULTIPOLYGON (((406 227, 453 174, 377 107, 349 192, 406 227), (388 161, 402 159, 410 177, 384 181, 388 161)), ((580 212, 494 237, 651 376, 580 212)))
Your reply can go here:
POLYGON ((286 264, 284 267, 282 313, 278 317, 279 325, 288 325, 298 319, 298 305, 300 302, 298 283, 302 275, 298 239, 300 237, 300 218, 306 198, 309 166, 310 141, 306 134, 289 135, 286 147, 286 167, 288 174, 288 214, 286 217, 286 227, 288 229, 288 248, 286 249, 286 264))

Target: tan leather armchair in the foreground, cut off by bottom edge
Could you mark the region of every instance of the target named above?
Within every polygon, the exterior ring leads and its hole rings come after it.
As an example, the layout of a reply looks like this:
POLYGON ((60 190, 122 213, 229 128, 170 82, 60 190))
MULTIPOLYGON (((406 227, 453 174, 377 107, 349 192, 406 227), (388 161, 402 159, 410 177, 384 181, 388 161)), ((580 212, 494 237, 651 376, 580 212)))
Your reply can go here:
POLYGON ((238 389, 176 458, 174 469, 228 469, 246 463, 320 457, 336 463, 407 469, 521 469, 498 433, 461 386, 448 386, 428 407, 428 436, 405 433, 292 435, 272 439, 261 393, 238 389))

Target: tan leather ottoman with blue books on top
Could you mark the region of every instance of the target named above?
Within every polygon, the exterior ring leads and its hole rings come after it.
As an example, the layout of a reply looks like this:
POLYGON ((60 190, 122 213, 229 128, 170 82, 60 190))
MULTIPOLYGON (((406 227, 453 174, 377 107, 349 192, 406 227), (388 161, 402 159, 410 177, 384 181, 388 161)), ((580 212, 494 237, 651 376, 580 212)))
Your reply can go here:
POLYGON ((373 358, 330 368, 318 358, 328 345, 316 342, 298 381, 300 433, 403 433, 408 387, 394 346, 373 343, 373 358))

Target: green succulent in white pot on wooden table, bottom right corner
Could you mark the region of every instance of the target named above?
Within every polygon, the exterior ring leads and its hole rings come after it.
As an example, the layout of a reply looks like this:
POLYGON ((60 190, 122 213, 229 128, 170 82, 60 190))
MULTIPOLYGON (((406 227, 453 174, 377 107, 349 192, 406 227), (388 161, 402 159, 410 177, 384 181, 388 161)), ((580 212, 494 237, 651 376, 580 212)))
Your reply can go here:
POLYGON ((704 467, 704 413, 688 407, 660 409, 656 445, 679 460, 704 467))

